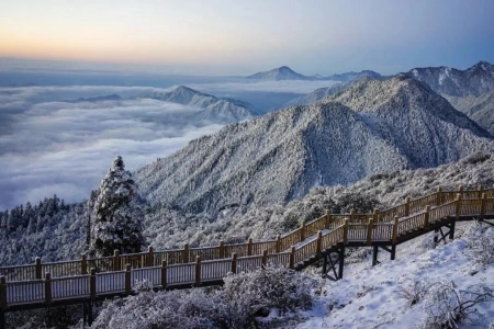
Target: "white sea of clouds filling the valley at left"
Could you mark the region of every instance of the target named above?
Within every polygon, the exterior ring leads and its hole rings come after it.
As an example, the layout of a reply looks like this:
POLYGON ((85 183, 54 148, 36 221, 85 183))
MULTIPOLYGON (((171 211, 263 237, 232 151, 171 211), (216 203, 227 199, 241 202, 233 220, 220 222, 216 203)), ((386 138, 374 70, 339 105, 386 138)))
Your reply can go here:
POLYGON ((98 188, 115 156, 135 170, 221 128, 172 126, 170 115, 199 109, 148 99, 49 101, 144 91, 149 88, 0 89, 0 209, 53 194, 81 201, 98 188))

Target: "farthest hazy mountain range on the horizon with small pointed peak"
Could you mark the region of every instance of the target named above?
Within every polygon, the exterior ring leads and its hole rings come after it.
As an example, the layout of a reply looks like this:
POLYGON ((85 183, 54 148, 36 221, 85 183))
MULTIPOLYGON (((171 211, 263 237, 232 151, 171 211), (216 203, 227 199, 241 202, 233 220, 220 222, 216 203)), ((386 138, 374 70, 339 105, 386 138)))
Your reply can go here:
POLYGON ((361 72, 347 72, 340 75, 333 75, 328 77, 322 76, 304 76, 293 71, 288 66, 282 66, 269 71, 257 72, 255 75, 246 77, 246 79, 252 80, 267 80, 267 81, 279 81, 279 80, 330 80, 330 81, 350 81, 355 79, 360 79, 363 77, 381 77, 380 73, 364 70, 361 72))

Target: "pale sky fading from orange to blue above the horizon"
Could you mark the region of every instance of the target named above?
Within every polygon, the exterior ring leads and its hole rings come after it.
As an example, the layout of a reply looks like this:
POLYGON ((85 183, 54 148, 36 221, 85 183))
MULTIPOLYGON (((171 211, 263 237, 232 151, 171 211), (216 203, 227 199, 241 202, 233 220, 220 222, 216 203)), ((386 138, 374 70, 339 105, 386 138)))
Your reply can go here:
POLYGON ((492 0, 0 0, 0 58, 183 75, 494 63, 492 0))

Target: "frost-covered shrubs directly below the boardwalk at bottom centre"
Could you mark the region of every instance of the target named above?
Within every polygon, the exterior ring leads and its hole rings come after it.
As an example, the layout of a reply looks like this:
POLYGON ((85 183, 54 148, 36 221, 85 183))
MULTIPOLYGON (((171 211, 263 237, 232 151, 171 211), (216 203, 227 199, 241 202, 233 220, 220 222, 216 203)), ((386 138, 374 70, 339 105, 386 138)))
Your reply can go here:
POLYGON ((272 308, 280 314, 308 308, 312 282, 269 266, 228 275, 220 288, 156 293, 143 282, 135 296, 109 303, 91 328, 250 328, 272 308))

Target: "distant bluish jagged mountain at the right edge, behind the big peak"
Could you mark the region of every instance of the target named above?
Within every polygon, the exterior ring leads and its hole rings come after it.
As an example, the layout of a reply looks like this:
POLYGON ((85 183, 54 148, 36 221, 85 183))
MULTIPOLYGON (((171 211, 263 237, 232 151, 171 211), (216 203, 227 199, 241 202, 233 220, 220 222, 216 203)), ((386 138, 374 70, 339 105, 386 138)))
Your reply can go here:
POLYGON ((494 89, 494 66, 486 61, 465 70, 441 66, 414 68, 408 73, 436 92, 452 97, 479 97, 494 89))

